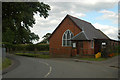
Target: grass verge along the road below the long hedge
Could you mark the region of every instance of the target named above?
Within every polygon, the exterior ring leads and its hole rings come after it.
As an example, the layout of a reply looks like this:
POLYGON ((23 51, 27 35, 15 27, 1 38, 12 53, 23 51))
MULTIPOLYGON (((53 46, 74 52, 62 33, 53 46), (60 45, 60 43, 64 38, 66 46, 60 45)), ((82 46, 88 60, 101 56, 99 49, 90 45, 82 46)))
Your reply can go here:
POLYGON ((16 53, 16 55, 19 56, 27 56, 27 57, 36 57, 36 58, 50 58, 49 55, 43 55, 43 54, 32 54, 32 53, 16 53))

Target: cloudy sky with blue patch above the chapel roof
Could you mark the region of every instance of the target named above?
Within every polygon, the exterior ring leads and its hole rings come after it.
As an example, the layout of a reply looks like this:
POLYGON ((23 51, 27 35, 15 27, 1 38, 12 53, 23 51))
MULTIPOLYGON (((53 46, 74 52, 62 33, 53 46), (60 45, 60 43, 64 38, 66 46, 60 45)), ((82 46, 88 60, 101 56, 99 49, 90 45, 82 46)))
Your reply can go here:
POLYGON ((57 0, 44 3, 48 4, 51 10, 46 19, 39 14, 34 15, 36 24, 31 31, 40 37, 40 40, 34 43, 40 42, 46 33, 52 33, 67 14, 90 22, 111 39, 118 39, 118 0, 57 0))

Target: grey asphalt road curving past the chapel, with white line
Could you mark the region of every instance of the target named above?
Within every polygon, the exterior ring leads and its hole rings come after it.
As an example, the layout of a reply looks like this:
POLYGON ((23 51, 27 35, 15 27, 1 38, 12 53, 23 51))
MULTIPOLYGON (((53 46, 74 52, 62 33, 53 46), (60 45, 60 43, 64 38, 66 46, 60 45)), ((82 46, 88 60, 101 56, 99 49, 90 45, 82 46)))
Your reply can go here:
POLYGON ((3 78, 117 78, 118 69, 72 59, 39 59, 12 56, 20 64, 3 78))

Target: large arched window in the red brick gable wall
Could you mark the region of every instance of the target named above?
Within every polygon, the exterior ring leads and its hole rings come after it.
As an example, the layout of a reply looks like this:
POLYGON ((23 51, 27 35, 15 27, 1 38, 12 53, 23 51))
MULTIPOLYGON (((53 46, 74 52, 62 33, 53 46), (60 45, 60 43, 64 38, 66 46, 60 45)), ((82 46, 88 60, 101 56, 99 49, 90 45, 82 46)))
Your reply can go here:
POLYGON ((70 39, 73 37, 73 33, 68 29, 64 32, 62 36, 62 46, 71 46, 72 43, 70 39))

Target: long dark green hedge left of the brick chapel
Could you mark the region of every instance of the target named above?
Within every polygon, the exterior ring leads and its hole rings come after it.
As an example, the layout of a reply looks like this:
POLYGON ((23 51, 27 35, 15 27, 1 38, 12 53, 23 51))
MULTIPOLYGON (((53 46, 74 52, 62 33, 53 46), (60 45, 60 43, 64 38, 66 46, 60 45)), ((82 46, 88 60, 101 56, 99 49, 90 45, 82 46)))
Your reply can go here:
POLYGON ((3 44, 3 47, 12 51, 49 51, 48 44, 3 44))

